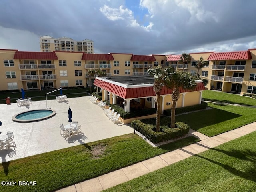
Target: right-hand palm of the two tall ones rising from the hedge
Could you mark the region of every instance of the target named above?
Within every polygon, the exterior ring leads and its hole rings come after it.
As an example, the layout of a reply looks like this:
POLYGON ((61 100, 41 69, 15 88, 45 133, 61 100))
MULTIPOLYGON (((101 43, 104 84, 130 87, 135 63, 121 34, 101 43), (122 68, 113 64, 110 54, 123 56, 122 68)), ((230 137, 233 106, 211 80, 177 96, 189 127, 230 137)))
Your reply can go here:
POLYGON ((172 89, 172 109, 171 109, 171 128, 175 128, 175 108, 178 99, 180 98, 180 88, 194 90, 196 81, 190 73, 176 71, 172 78, 164 82, 164 84, 172 89))

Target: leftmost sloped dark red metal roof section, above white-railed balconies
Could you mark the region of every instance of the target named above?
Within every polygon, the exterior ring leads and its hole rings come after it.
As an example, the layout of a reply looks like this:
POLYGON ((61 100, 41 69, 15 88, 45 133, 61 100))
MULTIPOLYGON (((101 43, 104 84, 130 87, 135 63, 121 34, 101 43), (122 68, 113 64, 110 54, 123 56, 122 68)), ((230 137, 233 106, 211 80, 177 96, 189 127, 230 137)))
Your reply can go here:
POLYGON ((16 51, 14 59, 49 59, 57 60, 54 52, 16 51))

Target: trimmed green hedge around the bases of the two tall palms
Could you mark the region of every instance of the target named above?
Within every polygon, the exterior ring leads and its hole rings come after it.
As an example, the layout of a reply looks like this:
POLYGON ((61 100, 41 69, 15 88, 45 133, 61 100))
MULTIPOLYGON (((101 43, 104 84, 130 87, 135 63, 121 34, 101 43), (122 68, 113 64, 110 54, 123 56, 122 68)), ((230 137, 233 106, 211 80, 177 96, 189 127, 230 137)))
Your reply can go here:
POLYGON ((146 124, 141 122, 140 120, 134 120, 131 122, 132 127, 143 134, 148 140, 153 143, 160 143, 164 141, 168 141, 170 139, 174 139, 177 137, 184 136, 188 134, 189 126, 183 122, 176 122, 175 128, 169 128, 167 125, 161 126, 160 131, 156 130, 155 125, 146 124))

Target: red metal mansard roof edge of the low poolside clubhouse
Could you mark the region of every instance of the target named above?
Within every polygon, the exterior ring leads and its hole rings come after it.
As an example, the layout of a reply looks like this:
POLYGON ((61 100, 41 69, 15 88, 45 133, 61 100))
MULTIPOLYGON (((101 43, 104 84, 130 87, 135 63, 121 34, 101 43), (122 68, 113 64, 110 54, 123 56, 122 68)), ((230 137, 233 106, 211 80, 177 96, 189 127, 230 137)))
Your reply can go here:
MULTIPOLYGON (((95 79, 94 80, 94 85, 103 88, 111 93, 114 93, 117 96, 120 96, 124 99, 129 99, 129 98, 139 98, 139 97, 151 97, 151 96, 156 96, 156 93, 153 90, 152 86, 148 87, 138 87, 138 88, 124 88, 122 86, 118 86, 116 84, 106 82, 103 80, 95 79)), ((196 89, 194 91, 201 91, 205 90, 205 86, 202 82, 197 83, 196 89)), ((180 93, 184 92, 191 92, 191 90, 184 90, 180 89, 180 93)), ((163 87, 161 91, 161 95, 167 95, 171 94, 172 90, 163 87)))

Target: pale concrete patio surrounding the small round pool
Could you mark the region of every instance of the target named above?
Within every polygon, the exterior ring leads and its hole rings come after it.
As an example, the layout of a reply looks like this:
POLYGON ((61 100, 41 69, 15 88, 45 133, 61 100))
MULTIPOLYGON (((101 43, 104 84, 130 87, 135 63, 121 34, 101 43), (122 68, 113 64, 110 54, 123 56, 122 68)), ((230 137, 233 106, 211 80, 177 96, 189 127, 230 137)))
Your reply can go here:
POLYGON ((24 158, 53 150, 67 148, 88 142, 111 138, 134 132, 124 124, 114 124, 104 115, 104 111, 88 100, 88 96, 68 98, 67 102, 47 100, 47 107, 56 111, 52 118, 31 122, 18 123, 12 121, 12 116, 28 110, 46 109, 46 101, 33 101, 30 106, 18 107, 16 103, 10 105, 0 104, 0 126, 2 134, 12 131, 16 143, 16 155, 9 157, 10 150, 0 150, 0 162, 24 158), (60 135, 61 123, 68 124, 68 108, 72 109, 72 120, 82 125, 82 132, 88 139, 83 140, 82 135, 72 136, 68 143, 60 135))

